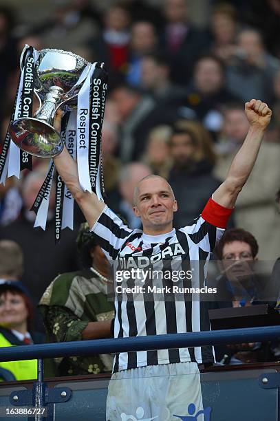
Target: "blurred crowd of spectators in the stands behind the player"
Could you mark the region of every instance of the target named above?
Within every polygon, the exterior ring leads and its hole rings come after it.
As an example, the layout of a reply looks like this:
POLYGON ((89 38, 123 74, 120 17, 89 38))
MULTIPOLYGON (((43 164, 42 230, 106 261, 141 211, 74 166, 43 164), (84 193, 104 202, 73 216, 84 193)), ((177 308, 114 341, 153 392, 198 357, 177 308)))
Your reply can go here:
MULTIPOLYGON (((105 202, 131 228, 133 188, 155 173, 169 180, 175 227, 199 215, 224 180, 248 131, 244 102, 261 99, 273 117, 237 199, 231 227, 280 255, 280 3, 277 0, 56 0, 0 4, 0 125, 5 138, 25 43, 104 61, 109 93, 103 124, 105 202), (102 4, 100 4, 102 3, 102 4), (43 7, 43 8, 42 8, 43 7), (41 10, 39 9, 41 8, 41 10)), ((74 231, 54 246, 54 197, 45 232, 30 212, 46 163, 0 185, 0 239, 23 250, 23 283, 35 304, 59 273, 80 268, 74 231)))

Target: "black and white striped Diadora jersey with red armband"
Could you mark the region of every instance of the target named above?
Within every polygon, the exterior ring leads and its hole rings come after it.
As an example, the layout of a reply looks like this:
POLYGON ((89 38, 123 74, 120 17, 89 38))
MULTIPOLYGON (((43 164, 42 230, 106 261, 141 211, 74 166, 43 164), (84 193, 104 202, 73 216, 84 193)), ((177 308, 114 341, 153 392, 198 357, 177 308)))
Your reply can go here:
MULTIPOLYGON (((191 288, 204 286, 207 262, 213 248, 224 233, 226 220, 231 213, 209 199, 202 215, 190 225, 171 230, 162 235, 146 235, 142 230, 131 230, 109 208, 105 208, 91 229, 96 241, 109 260, 114 260, 118 268, 135 264, 140 268, 172 272, 182 268, 191 270, 193 263, 204 261, 192 272, 191 279, 182 284, 191 288), (213 224, 215 223, 215 225, 213 224), (217 228, 217 226, 221 228, 217 228), (147 261, 149 266, 147 266, 147 261)), ((170 280, 161 277, 156 285, 159 291, 137 294, 116 295, 116 318, 114 336, 127 338, 155 334, 173 334, 210 330, 208 312, 199 299, 177 299, 176 294, 168 291, 170 280), (162 292, 161 292, 162 291, 162 292), (161 295, 160 295, 161 294, 161 295)), ((153 285, 153 279, 146 282, 153 285)), ((151 291, 151 288, 150 288, 151 291)), ((147 292, 147 290, 146 290, 147 292)), ((146 365, 180 363, 193 361, 208 363, 214 360, 212 347, 181 349, 159 349, 155 351, 123 352, 116 354, 114 371, 131 369, 146 365)))

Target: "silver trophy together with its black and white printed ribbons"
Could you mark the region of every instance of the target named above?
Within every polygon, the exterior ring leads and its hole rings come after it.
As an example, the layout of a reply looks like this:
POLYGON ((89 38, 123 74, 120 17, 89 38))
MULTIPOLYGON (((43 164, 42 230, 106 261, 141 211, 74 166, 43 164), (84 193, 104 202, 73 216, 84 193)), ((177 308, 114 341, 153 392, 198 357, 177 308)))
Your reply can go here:
MULTIPOLYGON (((66 147, 77 162, 81 188, 94 191, 102 199, 101 130, 106 92, 107 71, 103 64, 88 63, 63 50, 36 51, 25 46, 14 113, 0 155, 0 182, 5 182, 7 175, 19 177, 21 169, 31 169, 31 155, 54 158, 66 147), (40 107, 33 117, 34 94, 40 107), (58 107, 64 111, 61 133, 54 128, 58 107)), ((53 178, 55 241, 58 242, 61 230, 73 229, 74 199, 60 175, 54 176, 52 159, 31 210, 36 213, 34 227, 45 230, 53 178)))

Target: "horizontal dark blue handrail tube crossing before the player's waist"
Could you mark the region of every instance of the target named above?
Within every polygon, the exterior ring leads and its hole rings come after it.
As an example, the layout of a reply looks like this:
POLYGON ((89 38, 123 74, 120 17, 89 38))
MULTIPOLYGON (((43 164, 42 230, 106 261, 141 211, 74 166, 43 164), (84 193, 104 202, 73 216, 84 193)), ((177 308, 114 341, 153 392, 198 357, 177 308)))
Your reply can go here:
POLYGON ((280 326, 248 327, 242 329, 215 330, 211 332, 190 332, 133 338, 108 338, 89 341, 44 343, 0 348, 0 361, 32 360, 34 358, 54 358, 63 356, 87 356, 116 352, 147 351, 198 347, 202 345, 222 345, 280 341, 280 326))

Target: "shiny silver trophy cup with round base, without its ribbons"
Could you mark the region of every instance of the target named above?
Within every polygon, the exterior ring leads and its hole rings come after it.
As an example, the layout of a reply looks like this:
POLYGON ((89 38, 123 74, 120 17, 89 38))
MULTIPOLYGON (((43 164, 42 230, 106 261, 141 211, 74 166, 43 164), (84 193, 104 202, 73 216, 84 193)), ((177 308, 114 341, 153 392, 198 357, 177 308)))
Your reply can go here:
POLYGON ((19 118, 9 128, 12 140, 20 149, 40 158, 54 158, 61 153, 63 142, 54 128, 54 116, 58 107, 63 111, 76 107, 78 92, 89 72, 88 65, 84 58, 72 52, 52 49, 38 52, 34 93, 40 107, 34 118, 19 118))

